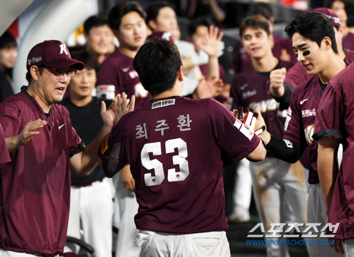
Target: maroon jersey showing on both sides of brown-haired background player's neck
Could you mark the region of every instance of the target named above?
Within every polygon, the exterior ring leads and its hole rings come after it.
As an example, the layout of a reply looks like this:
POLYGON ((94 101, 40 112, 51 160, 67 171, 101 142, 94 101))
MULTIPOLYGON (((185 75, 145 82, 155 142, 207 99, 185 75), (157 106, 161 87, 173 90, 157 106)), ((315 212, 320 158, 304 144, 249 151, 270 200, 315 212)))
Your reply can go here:
MULTIPOLYGON (((274 47, 272 49, 274 57, 282 58, 282 54, 288 54, 290 56, 290 62, 296 63, 297 59, 295 52, 292 48, 292 40, 287 38, 281 38, 277 35, 274 36, 274 47)), ((252 60, 246 49, 243 47, 242 42, 236 45, 234 50, 234 59, 230 66, 236 73, 242 71, 253 70, 252 60)))

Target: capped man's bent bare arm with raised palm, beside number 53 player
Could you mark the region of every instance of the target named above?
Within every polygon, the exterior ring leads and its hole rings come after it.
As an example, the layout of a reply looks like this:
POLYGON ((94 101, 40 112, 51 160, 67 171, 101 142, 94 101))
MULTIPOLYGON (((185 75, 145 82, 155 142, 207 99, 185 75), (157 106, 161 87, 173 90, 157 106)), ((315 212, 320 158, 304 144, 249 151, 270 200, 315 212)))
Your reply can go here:
POLYGON ((112 127, 118 122, 118 120, 127 112, 134 110, 135 97, 131 97, 130 105, 129 100, 126 99, 126 94, 122 93, 116 96, 111 106, 106 110, 106 104, 102 102, 101 116, 104 125, 95 139, 89 146, 77 154, 74 154, 70 158, 70 165, 74 171, 79 175, 89 175, 98 161, 98 150, 103 141, 111 134, 112 127))

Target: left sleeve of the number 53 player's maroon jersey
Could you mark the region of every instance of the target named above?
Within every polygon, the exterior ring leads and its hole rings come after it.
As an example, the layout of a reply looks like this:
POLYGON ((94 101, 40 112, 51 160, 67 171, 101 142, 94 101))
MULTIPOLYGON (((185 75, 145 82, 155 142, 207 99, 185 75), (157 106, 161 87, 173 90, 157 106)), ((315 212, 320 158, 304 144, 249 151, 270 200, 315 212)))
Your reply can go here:
POLYGON ((124 146, 124 127, 128 116, 129 113, 125 114, 113 127, 112 134, 107 137, 99 150, 102 168, 108 178, 112 178, 128 163, 124 146))

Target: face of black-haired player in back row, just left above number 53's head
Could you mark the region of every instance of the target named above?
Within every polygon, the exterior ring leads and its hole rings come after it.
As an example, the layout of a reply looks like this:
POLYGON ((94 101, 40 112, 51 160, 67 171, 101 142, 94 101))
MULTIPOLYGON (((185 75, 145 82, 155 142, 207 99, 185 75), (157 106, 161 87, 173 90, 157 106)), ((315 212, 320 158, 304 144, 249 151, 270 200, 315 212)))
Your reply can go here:
POLYGON ((143 17, 137 12, 130 12, 123 16, 117 38, 122 48, 138 50, 146 41, 146 24, 143 17))

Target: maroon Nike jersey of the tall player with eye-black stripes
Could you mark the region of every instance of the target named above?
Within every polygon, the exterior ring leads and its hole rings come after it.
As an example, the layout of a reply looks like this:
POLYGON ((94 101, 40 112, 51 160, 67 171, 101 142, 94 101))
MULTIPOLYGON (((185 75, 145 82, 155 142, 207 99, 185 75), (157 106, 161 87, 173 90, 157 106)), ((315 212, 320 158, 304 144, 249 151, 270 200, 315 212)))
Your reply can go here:
MULTIPOLYGON (((307 72, 306 72, 307 73, 307 72)), ((284 139, 287 139, 307 149, 304 165, 309 169, 308 183, 320 183, 317 174, 318 142, 312 136, 315 130, 315 117, 323 90, 320 78, 316 74, 297 87, 290 98, 286 122, 284 125, 284 139)))

